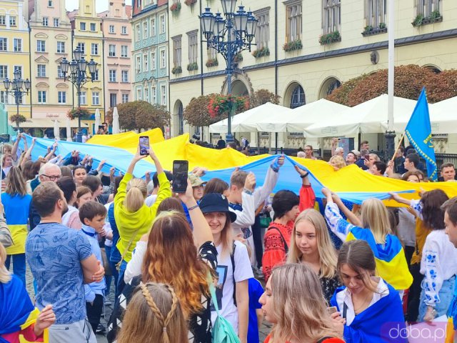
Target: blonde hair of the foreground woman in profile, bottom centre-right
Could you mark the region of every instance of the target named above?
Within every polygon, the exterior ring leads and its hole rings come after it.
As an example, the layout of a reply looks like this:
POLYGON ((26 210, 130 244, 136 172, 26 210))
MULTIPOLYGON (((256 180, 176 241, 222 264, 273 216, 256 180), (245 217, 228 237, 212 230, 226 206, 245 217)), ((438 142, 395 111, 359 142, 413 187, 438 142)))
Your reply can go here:
POLYGON ((272 342, 294 338, 316 342, 323 337, 340 337, 331 322, 321 283, 306 264, 284 264, 271 272, 273 316, 272 342))

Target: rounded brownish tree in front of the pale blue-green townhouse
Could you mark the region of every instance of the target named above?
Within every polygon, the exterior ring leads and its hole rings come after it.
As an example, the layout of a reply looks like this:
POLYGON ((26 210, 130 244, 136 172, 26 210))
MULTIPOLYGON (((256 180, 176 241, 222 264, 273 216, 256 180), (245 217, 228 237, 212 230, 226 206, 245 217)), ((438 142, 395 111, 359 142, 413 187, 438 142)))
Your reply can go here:
POLYGON ((117 106, 119 126, 126 130, 164 128, 170 114, 165 106, 152 105, 147 101, 131 101, 117 106))

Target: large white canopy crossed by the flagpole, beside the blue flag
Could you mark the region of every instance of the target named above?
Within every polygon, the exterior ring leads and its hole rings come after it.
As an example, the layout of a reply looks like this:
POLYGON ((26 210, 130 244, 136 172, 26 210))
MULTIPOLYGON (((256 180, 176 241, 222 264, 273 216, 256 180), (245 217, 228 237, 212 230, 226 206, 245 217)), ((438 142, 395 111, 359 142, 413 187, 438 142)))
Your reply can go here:
MULTIPOLYGON (((316 124, 306 127, 304 134, 312 137, 328 137, 348 136, 358 133, 383 133, 386 131, 388 121, 387 103, 387 94, 382 94, 374 99, 365 101, 362 104, 336 113, 337 118, 335 119, 325 122, 319 121, 316 124)), ((407 117, 409 119, 415 106, 416 101, 414 100, 394 96, 394 123, 400 118, 407 117)))

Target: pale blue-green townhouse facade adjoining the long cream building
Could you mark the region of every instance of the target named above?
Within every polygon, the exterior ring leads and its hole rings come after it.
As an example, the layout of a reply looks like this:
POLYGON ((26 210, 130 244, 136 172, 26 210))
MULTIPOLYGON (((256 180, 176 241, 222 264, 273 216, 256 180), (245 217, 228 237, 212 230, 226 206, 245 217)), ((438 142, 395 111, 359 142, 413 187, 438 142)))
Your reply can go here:
POLYGON ((135 100, 169 109, 169 7, 166 0, 135 0, 131 68, 135 100))

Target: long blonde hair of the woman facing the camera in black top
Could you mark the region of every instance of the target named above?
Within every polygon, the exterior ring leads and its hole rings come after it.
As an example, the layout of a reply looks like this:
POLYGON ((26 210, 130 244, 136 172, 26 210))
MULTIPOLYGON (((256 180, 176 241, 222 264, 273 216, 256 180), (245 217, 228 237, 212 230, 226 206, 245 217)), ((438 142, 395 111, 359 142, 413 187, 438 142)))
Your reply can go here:
POLYGON ((305 220, 316 229, 317 250, 321 269, 320 277, 332 278, 336 275, 336 252, 331 243, 325 219, 315 209, 306 209, 301 214, 298 214, 298 217, 295 219, 291 236, 291 249, 288 252, 287 262, 299 263, 303 258, 303 253, 297 247, 295 236, 297 224, 305 220))

